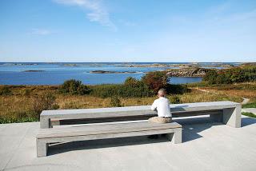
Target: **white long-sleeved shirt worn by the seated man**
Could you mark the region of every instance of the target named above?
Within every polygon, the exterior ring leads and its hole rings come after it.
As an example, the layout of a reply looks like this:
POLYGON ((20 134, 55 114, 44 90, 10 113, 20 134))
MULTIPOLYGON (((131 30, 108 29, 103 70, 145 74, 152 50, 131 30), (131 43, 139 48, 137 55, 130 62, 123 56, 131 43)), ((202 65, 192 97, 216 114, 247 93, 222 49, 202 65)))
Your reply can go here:
POLYGON ((158 117, 171 117, 170 113, 170 101, 166 97, 159 97, 154 100, 151 105, 151 109, 158 110, 158 117))

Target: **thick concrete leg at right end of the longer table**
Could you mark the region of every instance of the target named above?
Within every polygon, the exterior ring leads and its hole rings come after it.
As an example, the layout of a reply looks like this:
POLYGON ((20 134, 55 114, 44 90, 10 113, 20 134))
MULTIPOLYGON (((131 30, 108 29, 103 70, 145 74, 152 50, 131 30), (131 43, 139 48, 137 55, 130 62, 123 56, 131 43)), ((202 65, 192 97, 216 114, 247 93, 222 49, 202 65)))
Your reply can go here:
POLYGON ((235 108, 223 109, 223 123, 234 128, 241 127, 241 105, 235 108))

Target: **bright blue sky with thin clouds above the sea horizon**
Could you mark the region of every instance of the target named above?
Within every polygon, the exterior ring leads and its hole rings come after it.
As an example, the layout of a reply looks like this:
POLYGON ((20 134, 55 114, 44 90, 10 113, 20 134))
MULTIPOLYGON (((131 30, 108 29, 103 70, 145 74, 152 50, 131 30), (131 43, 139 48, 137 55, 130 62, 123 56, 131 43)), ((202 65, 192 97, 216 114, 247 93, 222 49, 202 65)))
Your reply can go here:
POLYGON ((256 1, 0 0, 0 62, 256 62, 256 1))

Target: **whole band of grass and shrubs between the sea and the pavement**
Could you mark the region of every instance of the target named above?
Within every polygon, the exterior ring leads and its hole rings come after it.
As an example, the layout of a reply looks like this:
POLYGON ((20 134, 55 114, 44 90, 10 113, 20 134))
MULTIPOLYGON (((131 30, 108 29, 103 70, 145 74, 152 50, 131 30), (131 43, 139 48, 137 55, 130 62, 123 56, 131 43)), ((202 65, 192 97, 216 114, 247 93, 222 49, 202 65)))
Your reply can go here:
POLYGON ((203 73, 203 81, 186 85, 169 83, 170 75, 174 74, 170 72, 150 72, 141 80, 127 78, 122 84, 111 85, 84 85, 78 80, 62 85, 0 85, 0 122, 38 121, 43 109, 151 105, 160 88, 166 88, 172 103, 242 102, 248 98, 243 107, 256 107, 255 65, 198 70, 194 73, 203 73))

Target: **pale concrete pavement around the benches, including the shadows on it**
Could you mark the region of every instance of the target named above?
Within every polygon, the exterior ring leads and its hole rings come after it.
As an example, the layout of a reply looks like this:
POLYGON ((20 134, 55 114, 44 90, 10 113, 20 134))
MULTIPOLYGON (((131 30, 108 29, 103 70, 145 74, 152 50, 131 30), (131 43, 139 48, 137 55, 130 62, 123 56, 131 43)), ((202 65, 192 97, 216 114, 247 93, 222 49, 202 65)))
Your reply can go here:
POLYGON ((78 141, 50 146, 39 158, 39 122, 0 125, 0 170, 255 170, 256 119, 242 116, 242 128, 201 117, 177 121, 182 144, 165 137, 78 141))

